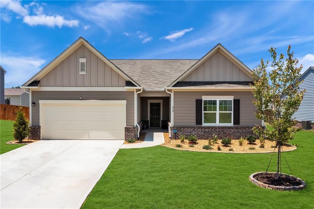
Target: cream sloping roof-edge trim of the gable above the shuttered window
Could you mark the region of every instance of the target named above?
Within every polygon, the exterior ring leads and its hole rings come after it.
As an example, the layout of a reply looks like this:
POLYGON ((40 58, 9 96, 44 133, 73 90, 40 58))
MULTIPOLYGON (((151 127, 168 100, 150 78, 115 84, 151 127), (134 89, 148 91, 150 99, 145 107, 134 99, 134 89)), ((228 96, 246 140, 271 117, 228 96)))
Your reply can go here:
POLYGON ((222 52, 223 55, 231 58, 235 61, 235 64, 244 69, 243 72, 247 74, 250 78, 253 78, 251 74, 251 69, 249 69, 244 63, 242 63, 238 58, 236 58, 233 54, 231 54, 225 47, 223 47, 220 43, 217 44, 212 50, 210 50, 205 56, 203 56, 201 59, 199 59, 195 64, 192 65, 187 71, 185 71, 179 78, 177 78, 175 81, 173 81, 168 87, 172 87, 175 85, 178 81, 184 79, 188 74, 190 74, 194 69, 198 68, 206 59, 208 59, 211 55, 213 55, 215 52, 222 52))

